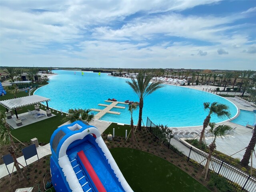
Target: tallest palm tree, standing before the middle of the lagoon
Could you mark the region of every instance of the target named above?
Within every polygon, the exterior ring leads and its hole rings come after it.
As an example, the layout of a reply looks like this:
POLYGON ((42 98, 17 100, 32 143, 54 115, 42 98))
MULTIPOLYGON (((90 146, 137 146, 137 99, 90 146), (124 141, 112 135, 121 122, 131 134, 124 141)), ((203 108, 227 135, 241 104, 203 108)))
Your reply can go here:
POLYGON ((138 120, 138 129, 141 130, 141 121, 142 121, 142 109, 143 109, 143 101, 146 96, 154 92, 155 90, 163 87, 161 82, 153 82, 150 84, 151 77, 148 75, 144 78, 142 72, 139 72, 137 76, 137 80, 131 78, 132 81, 126 81, 128 85, 132 88, 132 90, 138 95, 139 102, 139 120, 138 120))

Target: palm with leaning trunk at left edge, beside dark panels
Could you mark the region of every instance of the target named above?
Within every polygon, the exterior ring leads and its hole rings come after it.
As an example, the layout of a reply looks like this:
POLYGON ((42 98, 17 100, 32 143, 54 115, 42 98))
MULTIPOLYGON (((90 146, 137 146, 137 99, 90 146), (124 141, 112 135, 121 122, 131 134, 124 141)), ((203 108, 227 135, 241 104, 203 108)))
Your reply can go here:
POLYGON ((19 167, 19 163, 15 155, 15 144, 12 138, 12 134, 10 132, 10 126, 6 122, 6 114, 3 111, 0 111, 0 146, 6 145, 14 161, 14 166, 18 173, 19 182, 21 182, 25 179, 25 176, 21 168, 19 167))

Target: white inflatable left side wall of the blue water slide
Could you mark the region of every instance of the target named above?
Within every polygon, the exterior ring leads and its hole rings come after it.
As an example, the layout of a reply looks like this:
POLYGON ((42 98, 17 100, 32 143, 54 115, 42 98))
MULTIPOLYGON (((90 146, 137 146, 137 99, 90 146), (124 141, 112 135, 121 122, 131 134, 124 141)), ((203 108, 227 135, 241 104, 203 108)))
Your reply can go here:
POLYGON ((74 172, 72 165, 68 159, 68 156, 62 156, 59 160, 59 165, 62 168, 64 176, 66 176, 66 180, 72 192, 83 192, 82 186, 80 185, 76 173, 74 172))

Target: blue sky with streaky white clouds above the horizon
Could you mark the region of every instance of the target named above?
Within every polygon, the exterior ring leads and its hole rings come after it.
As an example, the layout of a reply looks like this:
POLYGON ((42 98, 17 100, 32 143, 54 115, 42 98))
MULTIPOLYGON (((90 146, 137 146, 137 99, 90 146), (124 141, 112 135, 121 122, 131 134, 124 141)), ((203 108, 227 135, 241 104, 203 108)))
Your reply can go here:
POLYGON ((256 70, 256 1, 0 0, 0 65, 256 70))

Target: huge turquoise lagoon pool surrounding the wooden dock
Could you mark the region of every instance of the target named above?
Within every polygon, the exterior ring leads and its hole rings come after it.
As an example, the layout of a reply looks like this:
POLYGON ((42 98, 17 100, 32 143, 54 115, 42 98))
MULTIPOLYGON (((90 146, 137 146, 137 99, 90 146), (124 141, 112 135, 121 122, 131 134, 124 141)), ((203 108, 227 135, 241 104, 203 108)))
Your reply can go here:
MULTIPOLYGON (((118 101, 139 101, 138 96, 126 83, 127 78, 117 78, 107 74, 56 70, 58 75, 51 76, 50 84, 36 90, 34 94, 50 98, 50 108, 62 109, 67 112, 70 108, 98 108, 98 104, 105 103, 108 98, 116 98, 118 101)), ((236 115, 237 108, 232 102, 198 90, 184 88, 182 86, 165 85, 144 99, 143 121, 146 124, 147 116, 155 124, 164 124, 169 127, 199 126, 203 124, 207 112, 203 109, 204 102, 220 102, 230 107, 232 117, 236 115)), ((120 105, 122 106, 122 105, 120 105)), ((114 108, 112 111, 120 112, 120 115, 106 114, 101 120, 130 123, 128 106, 125 109, 114 108)), ((138 121, 139 110, 133 113, 134 124, 138 121)), ((97 112, 94 112, 96 114, 97 112)), ((221 122, 216 116, 212 122, 221 122)))

